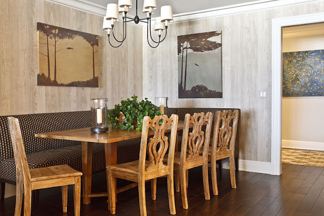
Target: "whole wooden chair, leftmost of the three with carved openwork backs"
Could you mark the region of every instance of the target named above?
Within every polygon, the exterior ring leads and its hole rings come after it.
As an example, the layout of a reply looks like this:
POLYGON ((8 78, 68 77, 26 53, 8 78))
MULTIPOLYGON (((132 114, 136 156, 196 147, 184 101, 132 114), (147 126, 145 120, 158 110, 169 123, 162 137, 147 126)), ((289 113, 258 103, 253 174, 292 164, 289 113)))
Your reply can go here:
POLYGON ((115 214, 116 209, 116 178, 138 182, 138 195, 140 202, 140 213, 146 215, 145 201, 145 181, 151 180, 152 200, 156 198, 156 178, 168 176, 168 194, 170 213, 176 214, 174 188, 173 188, 173 160, 175 152, 176 133, 178 125, 178 115, 155 116, 151 119, 145 116, 143 119, 143 129, 139 160, 108 165, 107 188, 109 193, 110 213, 115 214), (159 122, 161 124, 159 125, 159 122), (171 126, 170 142, 165 136, 165 131, 171 126), (153 138, 147 143, 148 129, 154 129, 153 138), (163 163, 164 156, 169 148, 168 163, 163 163), (146 153, 149 160, 145 160, 146 153))

